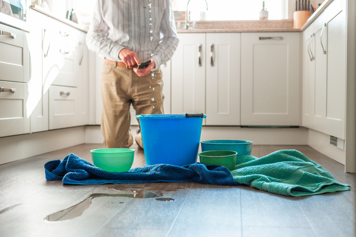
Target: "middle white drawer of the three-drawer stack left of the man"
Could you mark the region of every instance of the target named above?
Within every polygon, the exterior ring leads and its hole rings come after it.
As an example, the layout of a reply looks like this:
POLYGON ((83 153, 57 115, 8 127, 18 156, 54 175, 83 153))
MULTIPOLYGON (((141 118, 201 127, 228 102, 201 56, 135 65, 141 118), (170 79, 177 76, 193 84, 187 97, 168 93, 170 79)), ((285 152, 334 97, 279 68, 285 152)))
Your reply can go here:
POLYGON ((52 41, 43 59, 46 84, 77 86, 78 49, 52 41))

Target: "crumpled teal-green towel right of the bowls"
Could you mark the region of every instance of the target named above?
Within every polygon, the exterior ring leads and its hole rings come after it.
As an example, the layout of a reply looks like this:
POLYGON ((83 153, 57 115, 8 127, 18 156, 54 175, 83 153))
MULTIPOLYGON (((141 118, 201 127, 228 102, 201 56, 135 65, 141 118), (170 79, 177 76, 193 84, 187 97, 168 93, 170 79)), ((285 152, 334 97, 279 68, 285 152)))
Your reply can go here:
POLYGON ((286 196, 306 196, 350 190, 321 165, 295 150, 281 150, 266 157, 237 157, 231 171, 238 184, 286 196))

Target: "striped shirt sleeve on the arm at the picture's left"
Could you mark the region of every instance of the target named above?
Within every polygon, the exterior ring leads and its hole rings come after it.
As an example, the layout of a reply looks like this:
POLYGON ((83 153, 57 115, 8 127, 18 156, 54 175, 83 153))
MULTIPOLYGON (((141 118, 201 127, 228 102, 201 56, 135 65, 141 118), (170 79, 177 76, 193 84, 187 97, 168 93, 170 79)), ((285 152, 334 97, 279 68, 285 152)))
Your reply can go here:
POLYGON ((111 58, 119 58, 119 52, 125 47, 107 38, 109 26, 102 17, 102 4, 102 0, 96 1, 93 19, 86 36, 86 43, 91 51, 100 55, 108 55, 111 58))

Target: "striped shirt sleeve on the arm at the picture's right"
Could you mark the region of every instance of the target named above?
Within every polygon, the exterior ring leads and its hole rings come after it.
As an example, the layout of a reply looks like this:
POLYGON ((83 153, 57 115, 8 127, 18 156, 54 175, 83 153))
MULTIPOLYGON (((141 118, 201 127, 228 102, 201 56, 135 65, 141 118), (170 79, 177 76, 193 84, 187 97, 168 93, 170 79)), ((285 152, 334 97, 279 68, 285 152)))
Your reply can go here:
POLYGON ((159 45, 155 49, 152 56, 156 64, 154 69, 157 69, 161 64, 172 58, 179 42, 177 37, 176 23, 174 20, 174 13, 170 0, 166 0, 166 7, 164 9, 161 21, 160 33, 163 35, 163 37, 161 37, 159 45))

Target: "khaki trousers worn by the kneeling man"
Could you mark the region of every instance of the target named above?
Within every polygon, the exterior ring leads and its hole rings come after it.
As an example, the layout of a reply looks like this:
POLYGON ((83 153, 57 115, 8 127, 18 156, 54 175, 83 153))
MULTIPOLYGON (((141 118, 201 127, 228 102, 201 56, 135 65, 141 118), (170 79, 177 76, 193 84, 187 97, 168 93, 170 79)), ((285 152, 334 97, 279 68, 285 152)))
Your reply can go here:
MULTIPOLYGON (((136 115, 163 114, 162 88, 159 69, 139 77, 133 70, 104 62, 101 71, 101 132, 106 148, 128 148, 132 145, 129 133, 131 104, 136 115)), ((141 136, 138 138, 142 139, 141 136)))

